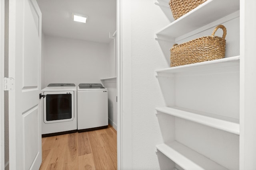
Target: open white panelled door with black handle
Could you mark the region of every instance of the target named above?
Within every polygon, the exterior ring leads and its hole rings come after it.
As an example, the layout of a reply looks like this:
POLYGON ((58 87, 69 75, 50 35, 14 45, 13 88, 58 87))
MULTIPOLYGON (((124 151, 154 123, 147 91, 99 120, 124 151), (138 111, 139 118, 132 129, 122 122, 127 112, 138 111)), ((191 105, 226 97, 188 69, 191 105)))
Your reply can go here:
POLYGON ((10 170, 38 170, 42 162, 41 19, 36 0, 9 0, 10 170))

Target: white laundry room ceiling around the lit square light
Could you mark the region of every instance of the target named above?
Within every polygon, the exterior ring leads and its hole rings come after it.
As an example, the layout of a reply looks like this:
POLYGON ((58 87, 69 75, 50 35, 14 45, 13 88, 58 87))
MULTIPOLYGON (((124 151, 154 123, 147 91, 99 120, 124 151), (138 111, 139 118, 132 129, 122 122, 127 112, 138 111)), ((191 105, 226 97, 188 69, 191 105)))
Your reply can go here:
POLYGON ((116 0, 37 0, 45 35, 109 43, 116 31, 116 0), (86 23, 72 20, 72 13, 88 16, 86 23))

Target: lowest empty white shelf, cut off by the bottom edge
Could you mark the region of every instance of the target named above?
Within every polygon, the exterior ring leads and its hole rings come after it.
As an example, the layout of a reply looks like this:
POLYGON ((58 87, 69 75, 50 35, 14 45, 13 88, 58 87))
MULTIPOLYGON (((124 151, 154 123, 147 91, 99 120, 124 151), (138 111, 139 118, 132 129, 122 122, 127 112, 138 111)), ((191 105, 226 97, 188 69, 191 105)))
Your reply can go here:
POLYGON ((156 148, 185 170, 227 170, 202 154, 174 141, 156 148))

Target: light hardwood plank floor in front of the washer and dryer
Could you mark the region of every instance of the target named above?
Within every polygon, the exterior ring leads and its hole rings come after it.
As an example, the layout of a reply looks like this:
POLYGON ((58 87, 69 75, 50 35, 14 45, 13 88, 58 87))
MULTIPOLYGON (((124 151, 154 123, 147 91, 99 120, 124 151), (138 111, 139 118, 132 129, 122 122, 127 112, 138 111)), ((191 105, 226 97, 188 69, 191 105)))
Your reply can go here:
POLYGON ((116 130, 42 138, 40 170, 117 170, 116 130))

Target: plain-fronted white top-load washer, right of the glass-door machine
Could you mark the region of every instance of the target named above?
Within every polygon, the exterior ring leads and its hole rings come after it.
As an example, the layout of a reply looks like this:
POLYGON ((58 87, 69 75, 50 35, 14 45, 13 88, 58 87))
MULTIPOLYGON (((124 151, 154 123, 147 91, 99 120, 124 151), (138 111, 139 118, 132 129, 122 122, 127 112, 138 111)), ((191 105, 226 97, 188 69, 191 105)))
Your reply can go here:
POLYGON ((77 87, 77 129, 89 131, 108 127, 108 90, 101 84, 77 87))

